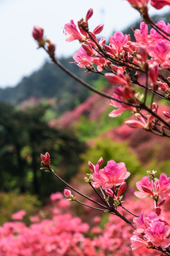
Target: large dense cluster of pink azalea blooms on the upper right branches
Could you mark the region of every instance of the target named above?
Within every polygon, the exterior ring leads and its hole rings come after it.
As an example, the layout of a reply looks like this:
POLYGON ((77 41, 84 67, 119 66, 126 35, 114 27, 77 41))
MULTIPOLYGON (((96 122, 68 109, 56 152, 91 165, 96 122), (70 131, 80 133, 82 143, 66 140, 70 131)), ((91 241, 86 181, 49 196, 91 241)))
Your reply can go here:
MULTIPOLYGON (((96 34, 101 33, 103 24, 98 25, 94 31, 89 30, 89 18, 93 10, 89 9, 86 20, 81 19, 78 27, 74 21, 65 24, 64 30, 68 42, 78 40, 81 47, 74 53, 75 63, 80 68, 89 72, 105 75, 108 82, 113 86, 113 97, 108 105, 117 107, 109 114, 110 117, 120 116, 125 110, 130 110, 135 114, 135 119, 130 119, 126 124, 132 128, 147 129, 156 134, 162 135, 160 125, 166 124, 167 136, 169 136, 169 122, 159 117, 158 104, 152 102, 150 107, 146 107, 147 92, 153 95, 169 100, 170 82, 165 78, 161 70, 169 69, 170 65, 170 25, 164 21, 158 21, 149 31, 147 23, 152 23, 147 9, 148 1, 128 0, 133 7, 142 10, 142 16, 145 23, 140 23, 140 29, 134 31, 136 41, 130 39, 130 35, 124 35, 122 32, 115 32, 109 38, 109 44, 106 44, 106 38, 98 40, 96 34), (90 14, 90 15, 89 15, 90 14), (87 18, 88 16, 88 18, 87 18), (132 70, 135 75, 132 75, 132 70), (144 78, 145 82, 141 82, 144 78), (135 93, 133 85, 139 85, 145 88, 145 97, 142 101, 142 95, 135 93), (142 111, 147 110, 147 112, 142 111), (159 121, 159 122, 158 122, 159 121), (163 122, 163 123, 162 123, 163 122)), ((162 8, 169 1, 151 1, 152 6, 157 9, 162 8), (159 2, 159 3, 158 3, 159 2)))

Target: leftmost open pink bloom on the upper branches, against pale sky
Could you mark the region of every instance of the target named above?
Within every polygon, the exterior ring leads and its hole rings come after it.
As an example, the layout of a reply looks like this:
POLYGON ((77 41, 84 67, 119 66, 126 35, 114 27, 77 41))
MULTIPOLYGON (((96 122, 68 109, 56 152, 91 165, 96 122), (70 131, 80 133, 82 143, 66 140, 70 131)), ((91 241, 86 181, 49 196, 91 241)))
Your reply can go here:
POLYGON ((67 36, 66 41, 72 42, 74 40, 84 41, 83 36, 77 30, 77 26, 74 24, 74 21, 71 20, 70 23, 64 25, 65 34, 67 36))

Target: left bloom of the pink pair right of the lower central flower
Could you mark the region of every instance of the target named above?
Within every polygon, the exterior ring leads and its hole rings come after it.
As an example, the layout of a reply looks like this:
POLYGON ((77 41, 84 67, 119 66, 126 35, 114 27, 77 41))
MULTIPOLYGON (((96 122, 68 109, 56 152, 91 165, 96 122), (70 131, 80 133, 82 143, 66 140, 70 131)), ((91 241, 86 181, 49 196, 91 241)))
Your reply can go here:
POLYGON ((153 181, 150 181, 148 176, 143 177, 142 181, 137 181, 136 186, 140 192, 136 191, 135 196, 137 196, 139 198, 145 198, 147 196, 154 196, 153 181))

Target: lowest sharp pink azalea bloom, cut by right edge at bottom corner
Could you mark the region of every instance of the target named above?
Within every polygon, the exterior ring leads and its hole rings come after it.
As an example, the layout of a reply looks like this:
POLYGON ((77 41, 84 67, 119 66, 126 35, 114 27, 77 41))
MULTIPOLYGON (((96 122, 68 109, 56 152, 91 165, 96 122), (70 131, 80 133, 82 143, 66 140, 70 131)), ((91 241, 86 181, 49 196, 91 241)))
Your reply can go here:
POLYGON ((170 245, 169 236, 170 227, 162 222, 154 222, 152 228, 145 230, 145 235, 156 246, 161 246, 163 249, 170 245))

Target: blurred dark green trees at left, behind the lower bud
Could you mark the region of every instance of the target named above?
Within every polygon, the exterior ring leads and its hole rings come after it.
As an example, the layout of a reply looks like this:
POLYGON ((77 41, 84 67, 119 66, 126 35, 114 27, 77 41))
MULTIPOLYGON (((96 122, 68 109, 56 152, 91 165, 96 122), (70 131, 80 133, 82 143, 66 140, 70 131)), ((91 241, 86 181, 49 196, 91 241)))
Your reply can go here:
POLYGON ((84 144, 73 132, 49 127, 44 121, 45 110, 40 105, 21 112, 0 103, 1 191, 29 191, 40 198, 62 191, 64 185, 60 181, 40 171, 40 153, 46 151, 66 181, 77 173, 84 144))

